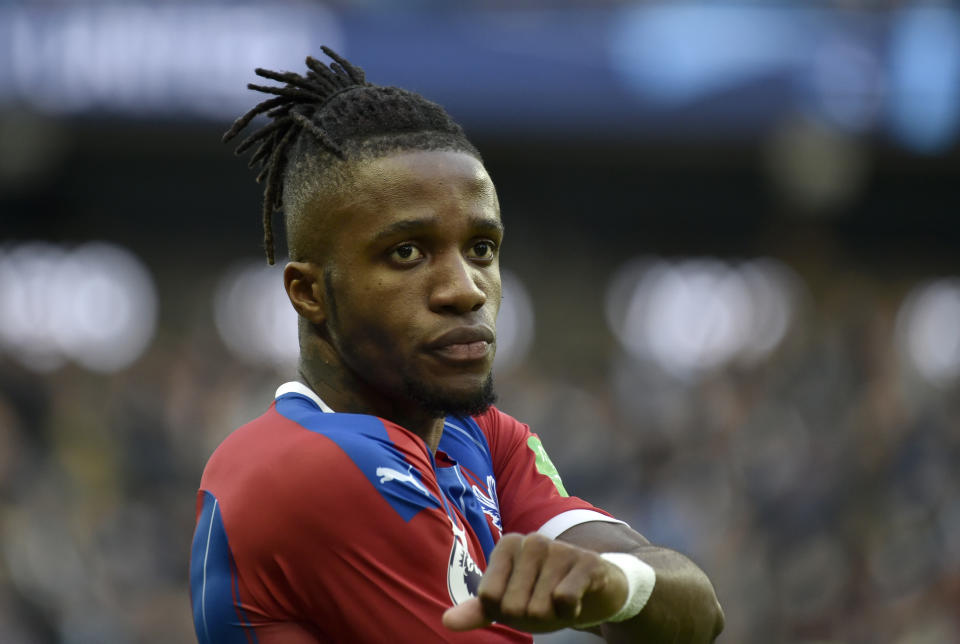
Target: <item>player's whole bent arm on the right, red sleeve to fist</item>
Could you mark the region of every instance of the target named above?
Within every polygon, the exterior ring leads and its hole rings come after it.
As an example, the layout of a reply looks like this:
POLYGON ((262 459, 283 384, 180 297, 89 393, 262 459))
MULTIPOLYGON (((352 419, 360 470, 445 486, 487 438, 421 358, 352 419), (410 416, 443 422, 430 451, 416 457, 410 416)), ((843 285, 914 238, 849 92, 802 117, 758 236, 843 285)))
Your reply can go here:
MULTIPOLYGON (((568 510, 602 511, 567 495, 527 425, 495 408, 477 420, 491 447, 503 527, 520 534, 503 535, 488 557, 478 598, 448 610, 448 628, 467 630, 496 620, 544 632, 604 622, 624 606, 628 583, 623 571, 598 553, 626 552, 653 569, 653 592, 633 618, 589 630, 612 642, 713 641, 723 629, 723 611, 699 568, 620 523, 588 520, 559 534, 563 528, 540 534, 568 510)), ((643 594, 635 597, 643 601, 643 594)))

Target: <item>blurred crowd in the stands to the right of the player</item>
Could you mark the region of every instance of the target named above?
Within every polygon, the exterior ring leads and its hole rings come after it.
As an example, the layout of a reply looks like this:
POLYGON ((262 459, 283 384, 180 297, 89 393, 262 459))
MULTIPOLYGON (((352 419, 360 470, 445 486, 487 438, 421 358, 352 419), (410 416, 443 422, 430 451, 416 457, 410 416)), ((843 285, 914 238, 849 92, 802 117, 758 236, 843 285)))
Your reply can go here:
POLYGON ((614 357, 606 383, 510 402, 568 489, 703 566, 721 641, 960 642, 960 391, 893 349, 895 295, 837 280, 751 370, 679 383, 614 357))

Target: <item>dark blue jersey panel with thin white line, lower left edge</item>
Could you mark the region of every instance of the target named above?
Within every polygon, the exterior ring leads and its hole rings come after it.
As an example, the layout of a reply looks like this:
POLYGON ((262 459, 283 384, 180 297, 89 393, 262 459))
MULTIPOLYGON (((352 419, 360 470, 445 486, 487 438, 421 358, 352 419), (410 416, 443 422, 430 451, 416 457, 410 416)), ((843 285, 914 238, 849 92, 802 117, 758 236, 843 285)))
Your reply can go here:
POLYGON ((203 509, 193 533, 190 554, 190 598, 193 626, 200 644, 249 644, 257 641, 243 609, 234 579, 233 555, 217 498, 203 492, 203 509), (239 600, 237 600, 239 601, 239 600))

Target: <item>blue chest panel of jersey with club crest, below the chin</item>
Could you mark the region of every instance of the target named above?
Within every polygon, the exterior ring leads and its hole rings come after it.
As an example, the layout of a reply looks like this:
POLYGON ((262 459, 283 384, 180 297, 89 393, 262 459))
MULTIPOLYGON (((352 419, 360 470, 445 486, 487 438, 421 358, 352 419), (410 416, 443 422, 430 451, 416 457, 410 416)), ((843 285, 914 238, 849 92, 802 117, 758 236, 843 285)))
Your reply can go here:
MULTIPOLYGON (((458 465, 463 465, 481 481, 493 480, 493 460, 490 458, 490 445, 487 437, 472 418, 447 417, 444 423, 443 436, 440 437, 438 449, 458 465)), ((494 538, 490 533, 490 526, 484 516, 484 505, 473 493, 472 486, 459 470, 458 466, 441 467, 437 470, 437 479, 447 495, 454 501, 460 512, 470 522, 470 526, 480 540, 487 560, 493 551, 494 538)), ((486 486, 486 484, 484 484, 486 486)), ((481 490, 496 503, 496 492, 481 490)), ((498 507, 488 507, 488 512, 496 514, 499 525, 500 512, 498 507)))

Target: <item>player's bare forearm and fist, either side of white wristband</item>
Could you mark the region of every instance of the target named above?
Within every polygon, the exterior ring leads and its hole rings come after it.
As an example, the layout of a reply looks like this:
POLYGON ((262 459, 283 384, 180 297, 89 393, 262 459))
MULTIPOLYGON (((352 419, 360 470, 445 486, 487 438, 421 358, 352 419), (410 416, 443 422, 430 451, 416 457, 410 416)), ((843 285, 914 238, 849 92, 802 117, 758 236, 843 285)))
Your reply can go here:
POLYGON ((537 534, 504 535, 490 559, 478 597, 447 611, 444 624, 467 630, 499 621, 531 632, 594 624, 626 600, 627 581, 598 552, 628 552, 657 574, 653 594, 635 617, 601 624, 609 642, 712 642, 723 611, 706 575, 686 557, 650 545, 619 524, 574 526, 556 541, 537 534))

